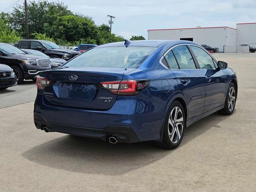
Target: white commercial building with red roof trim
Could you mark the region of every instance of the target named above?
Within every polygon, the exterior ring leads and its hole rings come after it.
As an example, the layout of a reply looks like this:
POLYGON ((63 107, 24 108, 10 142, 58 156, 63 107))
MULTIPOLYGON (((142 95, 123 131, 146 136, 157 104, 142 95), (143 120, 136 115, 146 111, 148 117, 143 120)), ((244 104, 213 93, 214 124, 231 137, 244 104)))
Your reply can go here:
POLYGON ((235 50, 240 44, 254 46, 256 44, 256 23, 236 24, 236 29, 231 27, 152 29, 148 30, 148 39, 190 40, 216 47, 219 52, 223 52, 224 46, 235 50))

